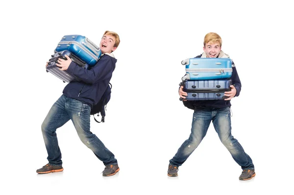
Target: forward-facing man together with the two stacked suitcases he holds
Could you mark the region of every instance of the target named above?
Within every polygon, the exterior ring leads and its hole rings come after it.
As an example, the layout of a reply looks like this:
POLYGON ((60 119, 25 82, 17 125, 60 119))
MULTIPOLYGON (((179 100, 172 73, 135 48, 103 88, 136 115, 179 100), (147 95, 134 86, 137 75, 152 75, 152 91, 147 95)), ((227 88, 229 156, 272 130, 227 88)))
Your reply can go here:
POLYGON ((178 167, 200 144, 211 121, 221 143, 243 169, 239 179, 255 176, 251 158, 231 134, 230 100, 239 96, 241 81, 234 63, 221 50, 221 43, 217 33, 208 33, 204 37, 204 52, 182 62, 187 74, 182 78, 179 95, 187 108, 194 109, 193 122, 189 138, 170 160, 169 176, 178 175, 178 167))

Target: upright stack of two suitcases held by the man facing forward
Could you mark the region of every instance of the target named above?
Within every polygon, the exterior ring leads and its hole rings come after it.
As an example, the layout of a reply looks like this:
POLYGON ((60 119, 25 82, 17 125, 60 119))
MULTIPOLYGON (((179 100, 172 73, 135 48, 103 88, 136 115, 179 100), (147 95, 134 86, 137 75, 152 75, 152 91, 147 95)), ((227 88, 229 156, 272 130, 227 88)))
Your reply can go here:
MULTIPOLYGON (((188 93, 187 100, 222 100, 230 91, 232 60, 229 58, 189 58, 182 61, 186 75, 180 86, 188 93)), ((182 100, 182 98, 180 98, 182 100)))

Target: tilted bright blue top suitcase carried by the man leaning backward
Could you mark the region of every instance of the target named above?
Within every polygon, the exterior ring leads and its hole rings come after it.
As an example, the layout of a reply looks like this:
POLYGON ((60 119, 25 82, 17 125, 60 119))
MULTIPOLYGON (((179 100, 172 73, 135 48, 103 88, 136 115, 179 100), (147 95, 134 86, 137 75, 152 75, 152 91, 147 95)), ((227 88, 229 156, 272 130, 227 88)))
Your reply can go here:
POLYGON ((101 56, 100 48, 82 35, 66 35, 55 48, 56 52, 69 50, 88 65, 94 66, 101 56))

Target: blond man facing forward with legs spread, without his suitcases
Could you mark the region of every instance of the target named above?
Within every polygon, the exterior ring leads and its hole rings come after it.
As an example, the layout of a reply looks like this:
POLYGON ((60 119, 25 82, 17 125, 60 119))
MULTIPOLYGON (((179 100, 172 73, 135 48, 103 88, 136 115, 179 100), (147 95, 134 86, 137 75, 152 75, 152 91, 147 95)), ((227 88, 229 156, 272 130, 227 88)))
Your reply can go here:
MULTIPOLYGON (((229 56, 221 50, 221 43, 221 37, 217 33, 206 34, 203 43, 204 52, 196 56, 196 58, 229 58, 229 56)), ((230 100, 238 96, 241 91, 241 81, 234 63, 232 63, 232 68, 231 80, 235 87, 231 85, 231 91, 225 92, 225 96, 228 98, 224 100, 183 101, 187 108, 194 109, 192 129, 189 139, 181 145, 177 153, 170 160, 168 169, 169 176, 178 175, 178 167, 187 160, 200 144, 206 135, 211 121, 221 139, 221 143, 243 169, 239 179, 248 180, 255 176, 254 165, 251 158, 245 153, 238 140, 231 134, 230 100)), ((181 98, 185 99, 185 96, 188 94, 183 91, 183 87, 180 87, 179 95, 181 98)))

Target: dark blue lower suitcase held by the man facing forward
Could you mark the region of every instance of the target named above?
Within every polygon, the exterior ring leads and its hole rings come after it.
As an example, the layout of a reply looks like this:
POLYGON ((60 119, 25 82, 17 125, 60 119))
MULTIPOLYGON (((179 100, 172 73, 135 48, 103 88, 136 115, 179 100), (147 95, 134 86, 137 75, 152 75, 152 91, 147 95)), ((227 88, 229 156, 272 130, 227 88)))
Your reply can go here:
MULTIPOLYGON (((187 100, 222 100, 228 98, 225 91, 230 91, 232 80, 183 81, 183 91, 188 93, 187 100)), ((182 98, 180 98, 182 100, 182 98)))

